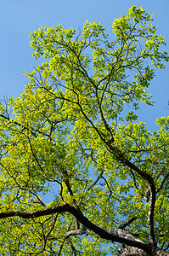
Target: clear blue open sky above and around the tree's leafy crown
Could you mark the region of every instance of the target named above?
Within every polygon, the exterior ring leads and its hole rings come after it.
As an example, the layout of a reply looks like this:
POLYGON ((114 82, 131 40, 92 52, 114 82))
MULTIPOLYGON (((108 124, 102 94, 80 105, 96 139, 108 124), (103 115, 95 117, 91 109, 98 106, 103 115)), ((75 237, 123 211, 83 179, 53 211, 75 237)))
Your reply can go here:
MULTIPOLYGON (((0 1, 0 99, 3 96, 19 96, 28 79, 22 74, 31 72, 37 66, 31 56, 29 33, 40 26, 62 23, 65 28, 82 28, 84 20, 100 21, 107 32, 111 32, 112 22, 128 9, 142 6, 154 17, 159 34, 166 38, 169 51, 169 0, 1 0, 0 1)), ((154 129, 156 117, 167 116, 169 99, 169 65, 166 70, 157 71, 149 90, 155 100, 155 107, 140 109, 139 120, 147 121, 149 129, 154 129)))

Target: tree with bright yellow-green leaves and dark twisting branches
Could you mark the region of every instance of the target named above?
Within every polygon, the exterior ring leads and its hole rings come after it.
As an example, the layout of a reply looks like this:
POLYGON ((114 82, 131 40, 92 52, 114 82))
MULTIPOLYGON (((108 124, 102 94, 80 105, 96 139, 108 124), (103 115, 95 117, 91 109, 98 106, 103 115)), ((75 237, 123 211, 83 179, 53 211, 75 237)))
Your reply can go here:
POLYGON ((169 255, 169 118, 137 123, 169 61, 151 22, 31 32, 44 61, 0 110, 1 255, 169 255))

